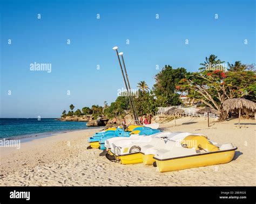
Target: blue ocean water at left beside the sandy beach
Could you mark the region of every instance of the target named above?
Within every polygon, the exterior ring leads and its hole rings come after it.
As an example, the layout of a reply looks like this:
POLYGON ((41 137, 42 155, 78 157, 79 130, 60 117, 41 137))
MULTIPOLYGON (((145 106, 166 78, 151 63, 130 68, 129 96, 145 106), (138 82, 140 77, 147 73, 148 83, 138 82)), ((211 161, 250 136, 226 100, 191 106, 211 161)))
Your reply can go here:
POLYGON ((0 118, 0 138, 46 136, 71 130, 88 129, 86 122, 57 121, 54 118, 0 118))

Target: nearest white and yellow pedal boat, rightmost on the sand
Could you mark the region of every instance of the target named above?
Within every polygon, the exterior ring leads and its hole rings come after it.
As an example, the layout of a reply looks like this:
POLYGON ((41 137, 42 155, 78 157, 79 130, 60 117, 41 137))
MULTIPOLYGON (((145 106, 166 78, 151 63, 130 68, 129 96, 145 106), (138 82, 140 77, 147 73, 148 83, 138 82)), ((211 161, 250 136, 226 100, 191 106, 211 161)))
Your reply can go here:
POLYGON ((235 150, 237 147, 231 143, 218 144, 203 136, 190 135, 181 142, 168 140, 163 149, 151 153, 158 171, 167 172, 228 163, 234 158, 235 150))

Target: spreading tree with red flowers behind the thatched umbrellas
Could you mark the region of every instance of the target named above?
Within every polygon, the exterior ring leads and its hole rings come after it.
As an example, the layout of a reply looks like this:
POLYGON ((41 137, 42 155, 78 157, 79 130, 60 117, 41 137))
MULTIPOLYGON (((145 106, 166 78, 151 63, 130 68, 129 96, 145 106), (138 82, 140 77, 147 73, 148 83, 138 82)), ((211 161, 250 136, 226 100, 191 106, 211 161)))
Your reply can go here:
POLYGON ((226 99, 245 97, 255 101, 256 78, 253 71, 195 72, 187 73, 186 78, 180 80, 176 88, 188 92, 193 99, 221 112, 226 99))

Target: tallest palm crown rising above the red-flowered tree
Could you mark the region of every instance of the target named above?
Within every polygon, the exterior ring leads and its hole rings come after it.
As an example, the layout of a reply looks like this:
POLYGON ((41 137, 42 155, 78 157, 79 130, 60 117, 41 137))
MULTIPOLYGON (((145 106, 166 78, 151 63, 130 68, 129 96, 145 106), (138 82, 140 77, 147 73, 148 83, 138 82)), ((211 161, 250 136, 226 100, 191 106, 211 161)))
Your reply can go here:
POLYGON ((217 59, 218 57, 215 56, 214 54, 211 54, 209 58, 205 58, 204 63, 200 63, 203 67, 200 67, 200 71, 206 71, 206 70, 221 70, 224 69, 221 63, 224 63, 225 61, 221 61, 220 59, 217 59))

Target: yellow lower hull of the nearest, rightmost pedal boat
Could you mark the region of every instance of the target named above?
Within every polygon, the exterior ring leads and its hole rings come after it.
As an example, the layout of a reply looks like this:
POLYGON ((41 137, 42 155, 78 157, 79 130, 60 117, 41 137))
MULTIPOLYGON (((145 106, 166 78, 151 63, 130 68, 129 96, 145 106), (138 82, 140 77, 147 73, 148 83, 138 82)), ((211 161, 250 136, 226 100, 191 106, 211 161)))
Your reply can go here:
POLYGON ((220 152, 210 152, 196 156, 179 157, 165 160, 156 159, 159 172, 169 172, 184 170, 186 168, 194 168, 201 166, 210 166, 217 164, 225 164, 234 158, 236 149, 220 152))

